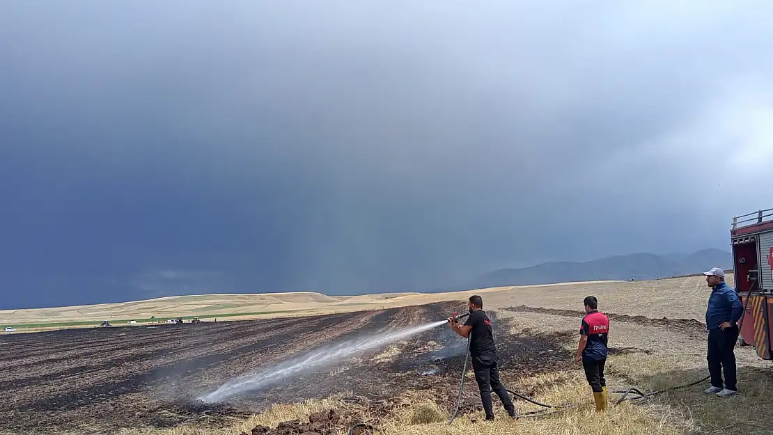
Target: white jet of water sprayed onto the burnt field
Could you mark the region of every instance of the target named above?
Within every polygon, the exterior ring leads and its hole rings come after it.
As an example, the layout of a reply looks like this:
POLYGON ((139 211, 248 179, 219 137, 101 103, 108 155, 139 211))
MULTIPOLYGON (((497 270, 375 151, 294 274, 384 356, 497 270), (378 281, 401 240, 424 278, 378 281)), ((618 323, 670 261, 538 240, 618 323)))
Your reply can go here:
POLYGON ((397 331, 384 332, 369 338, 353 339, 337 345, 325 346, 314 352, 284 362, 284 364, 265 369, 262 372, 257 372, 252 375, 243 376, 242 378, 235 379, 231 382, 226 382, 226 384, 223 384, 223 386, 220 386, 220 388, 212 393, 200 396, 199 400, 208 403, 216 403, 226 399, 226 397, 234 396, 239 393, 263 389, 267 386, 281 382, 290 376, 297 376, 303 372, 311 371, 312 369, 321 369, 322 367, 332 365, 335 362, 347 359, 360 352, 380 348, 383 345, 388 345, 393 342, 399 342, 410 335, 437 328, 445 323, 446 321, 441 320, 427 325, 398 329, 397 331))

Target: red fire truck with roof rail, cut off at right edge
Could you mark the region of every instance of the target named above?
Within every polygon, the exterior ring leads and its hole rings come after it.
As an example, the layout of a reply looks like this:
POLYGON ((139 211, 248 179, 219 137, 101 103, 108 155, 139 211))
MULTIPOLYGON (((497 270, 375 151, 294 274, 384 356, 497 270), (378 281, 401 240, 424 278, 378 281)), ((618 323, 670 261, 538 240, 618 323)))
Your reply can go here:
POLYGON ((761 359, 773 359, 773 209, 733 218, 735 287, 744 316, 741 344, 753 345, 761 359))

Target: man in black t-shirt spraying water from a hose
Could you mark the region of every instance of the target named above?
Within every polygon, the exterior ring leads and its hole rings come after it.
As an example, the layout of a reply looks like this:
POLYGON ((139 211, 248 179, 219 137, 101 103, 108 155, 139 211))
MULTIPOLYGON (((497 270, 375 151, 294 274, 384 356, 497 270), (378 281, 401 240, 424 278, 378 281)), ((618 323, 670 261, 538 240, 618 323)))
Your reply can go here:
POLYGON ((507 389, 499 380, 499 367, 497 362, 499 356, 496 354, 494 344, 494 334, 492 331, 491 320, 483 311, 483 299, 480 296, 471 296, 469 299, 470 317, 467 318, 464 325, 459 324, 456 318, 448 318, 448 326, 458 335, 470 338, 470 356, 472 357, 472 369, 475 371, 475 382, 478 382, 478 389, 481 393, 483 410, 485 410, 485 419, 494 420, 494 411, 491 402, 491 392, 493 390, 502 405, 505 406, 508 415, 511 418, 518 419, 516 407, 512 404, 507 389))

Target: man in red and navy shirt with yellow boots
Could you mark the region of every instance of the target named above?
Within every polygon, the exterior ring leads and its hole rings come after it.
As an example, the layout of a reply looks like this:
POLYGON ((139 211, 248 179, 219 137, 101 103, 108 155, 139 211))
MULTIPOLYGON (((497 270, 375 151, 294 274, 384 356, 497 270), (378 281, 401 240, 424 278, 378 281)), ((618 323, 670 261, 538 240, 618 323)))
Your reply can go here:
POLYGON ((607 409, 607 381, 604 379, 604 364, 607 362, 609 319, 598 311, 598 300, 594 296, 584 299, 585 317, 580 327, 580 342, 574 362, 582 361, 587 383, 593 389, 596 410, 607 409))

